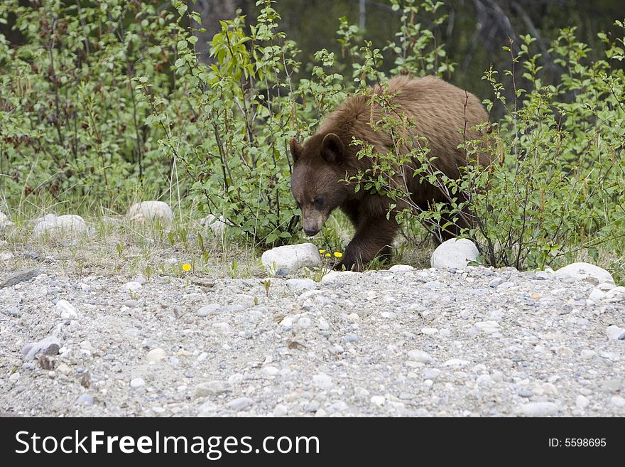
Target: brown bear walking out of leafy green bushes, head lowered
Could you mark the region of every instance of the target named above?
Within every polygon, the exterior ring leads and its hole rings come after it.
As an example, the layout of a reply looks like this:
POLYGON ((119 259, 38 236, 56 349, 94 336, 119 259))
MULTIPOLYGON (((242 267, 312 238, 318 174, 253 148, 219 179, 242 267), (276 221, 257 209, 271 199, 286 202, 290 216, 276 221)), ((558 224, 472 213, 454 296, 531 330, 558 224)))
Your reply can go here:
MULTIPOLYGON (((371 92, 382 90, 376 86, 371 92)), ((477 97, 433 76, 394 77, 388 81, 386 94, 391 96, 391 104, 398 105, 397 112, 411 117, 414 127, 408 131, 428 139, 430 156, 435 158, 433 166, 457 178, 460 167, 467 166, 465 151, 458 146, 465 140, 479 139, 480 133, 471 128, 488 120, 477 97), (464 129, 466 136, 462 135, 464 129)), ((370 97, 349 97, 303 145, 295 138, 290 141, 294 161, 291 192, 302 210, 305 234, 317 234, 335 208, 340 208, 356 229, 341 262, 335 264, 336 269, 362 271, 376 255, 388 256, 398 232, 394 216, 386 218, 390 198, 364 190, 356 192, 355 182, 348 181, 358 171, 371 167, 368 157, 357 158, 360 148, 352 144, 354 138, 373 145, 379 154, 393 148, 391 135, 376 131, 371 125, 384 118, 383 112, 379 104, 371 104, 370 97)), ((488 157, 484 154, 479 159, 484 163, 488 157)), ((406 183, 413 204, 427 209, 430 203, 446 201, 440 189, 413 176, 413 168, 407 167, 405 180, 401 180, 406 183)), ((398 208, 402 208, 399 204, 398 208)), ((450 229, 441 232, 438 240, 455 235, 457 231, 450 229)))

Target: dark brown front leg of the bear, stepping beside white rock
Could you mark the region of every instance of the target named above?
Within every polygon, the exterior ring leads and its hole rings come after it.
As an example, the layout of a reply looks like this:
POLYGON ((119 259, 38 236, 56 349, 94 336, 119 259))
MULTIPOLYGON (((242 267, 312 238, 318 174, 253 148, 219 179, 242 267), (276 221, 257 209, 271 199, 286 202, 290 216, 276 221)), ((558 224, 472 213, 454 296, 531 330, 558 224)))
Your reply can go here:
POLYGON ((371 259, 390 256, 391 244, 398 228, 393 216, 390 220, 384 216, 362 222, 347 245, 341 261, 335 264, 335 269, 362 272, 371 259))

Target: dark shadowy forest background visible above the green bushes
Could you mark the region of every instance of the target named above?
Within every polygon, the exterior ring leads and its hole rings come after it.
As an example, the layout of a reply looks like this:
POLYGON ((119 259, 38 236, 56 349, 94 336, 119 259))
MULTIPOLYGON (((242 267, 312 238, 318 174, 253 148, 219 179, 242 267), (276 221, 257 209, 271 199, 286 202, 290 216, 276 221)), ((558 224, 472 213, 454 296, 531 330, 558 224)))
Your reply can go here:
MULTIPOLYGON (((21 0, 19 3, 40 2, 21 0)), ((89 3, 96 2, 81 2, 89 3)), ((158 9, 173 9, 171 1, 150 3, 159 4, 158 9)), ((577 28, 577 38, 587 43, 592 53, 602 55, 603 46, 597 33, 616 33, 614 19, 625 15, 623 0, 450 0, 444 3, 441 11, 448 15, 447 21, 439 28, 427 23, 424 27, 435 30, 437 39, 445 43, 447 55, 457 63, 449 80, 479 96, 490 92, 490 85, 481 79, 484 70, 491 64, 495 70, 509 67, 510 54, 502 50, 509 38, 514 44, 519 43, 519 35, 531 34, 538 38, 545 79, 555 79, 558 67, 550 59, 548 48, 558 37, 560 28, 577 28)), ((219 32, 220 20, 233 18, 237 10, 253 19, 260 9, 255 0, 187 0, 187 4, 200 14, 206 30, 197 33, 200 36, 197 50, 205 61, 210 61, 209 42, 219 32)), ((343 16, 349 23, 358 25, 364 31, 363 38, 377 47, 391 41, 400 26, 400 12, 393 11, 384 0, 278 0, 275 6, 282 15, 281 29, 302 50, 303 63, 312 63, 312 55, 322 48, 341 52, 336 31, 338 18, 343 16)), ((13 30, 11 18, 8 23, 0 24, 0 32, 13 44, 23 43, 19 32, 13 30)), ((391 60, 387 61, 388 69, 391 60)))

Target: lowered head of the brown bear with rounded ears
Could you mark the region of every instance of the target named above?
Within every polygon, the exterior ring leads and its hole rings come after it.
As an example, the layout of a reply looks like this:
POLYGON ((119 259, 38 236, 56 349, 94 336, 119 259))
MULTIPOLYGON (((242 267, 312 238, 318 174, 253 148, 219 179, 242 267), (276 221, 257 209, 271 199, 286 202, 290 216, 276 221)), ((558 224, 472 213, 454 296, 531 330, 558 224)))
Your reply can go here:
POLYGON ((293 138, 290 154, 295 162, 290 190, 302 210, 304 233, 312 237, 349 197, 348 184, 342 181, 347 168, 344 144, 334 133, 315 134, 303 146, 293 138))

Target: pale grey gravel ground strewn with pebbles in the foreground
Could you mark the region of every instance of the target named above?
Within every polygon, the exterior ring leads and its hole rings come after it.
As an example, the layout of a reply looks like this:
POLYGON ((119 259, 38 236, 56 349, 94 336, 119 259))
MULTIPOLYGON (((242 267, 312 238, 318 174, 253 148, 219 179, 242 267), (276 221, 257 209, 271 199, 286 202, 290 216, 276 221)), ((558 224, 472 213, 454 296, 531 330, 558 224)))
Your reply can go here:
POLYGON ((625 294, 589 300, 592 284, 545 272, 395 269, 276 277, 267 295, 266 279, 44 267, 0 289, 0 412, 625 416, 625 294))

